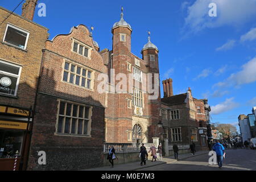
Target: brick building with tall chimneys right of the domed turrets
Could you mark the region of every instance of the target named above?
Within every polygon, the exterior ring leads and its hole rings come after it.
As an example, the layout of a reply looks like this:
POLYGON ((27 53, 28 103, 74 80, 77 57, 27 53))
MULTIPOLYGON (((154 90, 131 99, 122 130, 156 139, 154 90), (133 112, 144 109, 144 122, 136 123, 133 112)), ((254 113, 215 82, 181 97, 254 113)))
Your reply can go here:
POLYGON ((187 93, 175 95, 172 79, 163 81, 164 98, 159 114, 162 115, 163 137, 170 144, 196 144, 197 150, 207 150, 207 118, 204 100, 187 93))

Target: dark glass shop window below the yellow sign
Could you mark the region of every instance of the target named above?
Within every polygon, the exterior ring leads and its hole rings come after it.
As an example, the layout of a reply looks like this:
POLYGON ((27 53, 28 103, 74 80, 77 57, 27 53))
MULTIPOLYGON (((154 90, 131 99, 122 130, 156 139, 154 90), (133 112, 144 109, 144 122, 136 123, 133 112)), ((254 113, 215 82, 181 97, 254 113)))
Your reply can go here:
POLYGON ((0 129, 0 158, 13 159, 16 151, 20 155, 23 142, 23 131, 0 129))

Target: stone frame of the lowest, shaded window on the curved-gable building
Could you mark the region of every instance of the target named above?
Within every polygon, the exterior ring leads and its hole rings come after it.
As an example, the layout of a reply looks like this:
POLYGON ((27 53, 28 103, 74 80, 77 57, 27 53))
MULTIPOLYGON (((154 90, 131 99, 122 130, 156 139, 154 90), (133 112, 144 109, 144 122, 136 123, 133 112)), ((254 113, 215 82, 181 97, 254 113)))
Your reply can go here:
POLYGON ((64 101, 64 100, 58 100, 59 104, 57 106, 57 119, 56 119, 56 130, 55 130, 55 135, 59 136, 65 136, 65 137, 86 137, 86 138, 91 138, 91 132, 92 132, 92 106, 88 105, 82 105, 82 104, 77 104, 75 102, 69 102, 69 101, 64 101), (60 104, 63 102, 65 104, 64 106, 64 113, 60 114, 60 104), (67 105, 71 104, 71 113, 70 115, 67 115, 67 105), (77 116, 73 116, 73 106, 77 105, 77 116), (80 118, 79 116, 79 111, 80 107, 84 107, 83 109, 83 118, 80 118), (86 107, 89 109, 88 111, 88 118, 85 118, 85 112, 86 112, 86 107), (61 133, 58 132, 59 130, 59 118, 63 117, 63 123, 61 127, 61 133), (65 123, 66 123, 66 118, 69 119, 69 133, 65 133, 65 123), (76 119, 76 126, 75 126, 75 134, 72 134, 72 123, 73 119, 76 119), (82 120, 82 134, 79 133, 79 121, 82 120), (87 134, 84 134, 84 129, 85 129, 85 122, 88 122, 87 125, 87 134))

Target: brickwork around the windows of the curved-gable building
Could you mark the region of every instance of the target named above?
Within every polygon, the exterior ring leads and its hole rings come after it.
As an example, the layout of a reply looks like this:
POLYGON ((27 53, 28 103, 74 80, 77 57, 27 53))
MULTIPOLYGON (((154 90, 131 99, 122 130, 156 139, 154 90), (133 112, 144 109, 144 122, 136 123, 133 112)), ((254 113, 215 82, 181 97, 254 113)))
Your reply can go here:
POLYGON ((97 92, 99 84, 97 77, 100 73, 106 73, 106 69, 104 60, 93 46, 88 28, 84 25, 73 27, 69 34, 57 35, 52 41, 46 42, 28 161, 29 170, 74 170, 102 165, 105 139, 105 93, 97 92), (72 39, 92 47, 90 59, 72 52, 72 39), (93 72, 94 85, 91 90, 62 81, 66 60, 93 72), (59 100, 92 107, 89 137, 56 134, 59 100), (40 166, 37 163, 39 156, 36 151, 41 150, 47 155, 46 166, 40 166))

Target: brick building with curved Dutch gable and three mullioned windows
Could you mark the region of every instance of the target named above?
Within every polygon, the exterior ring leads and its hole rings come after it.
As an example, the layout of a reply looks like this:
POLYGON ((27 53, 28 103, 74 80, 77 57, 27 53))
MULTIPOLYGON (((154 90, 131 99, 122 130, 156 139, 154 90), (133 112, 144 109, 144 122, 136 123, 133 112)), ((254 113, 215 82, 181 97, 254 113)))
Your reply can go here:
POLYGON ((29 170, 70 170, 102 164, 106 73, 96 42, 82 24, 47 40, 31 141, 29 170), (37 163, 45 151, 47 164, 37 163))

